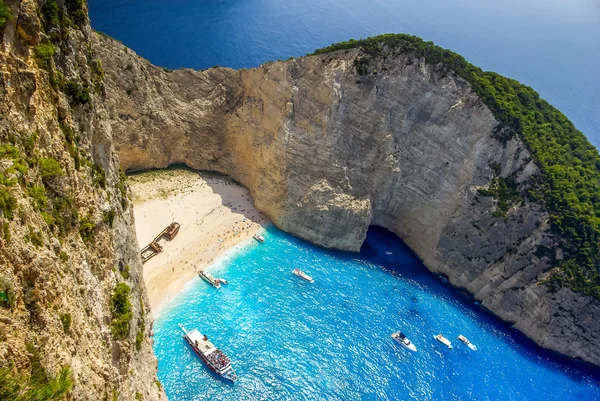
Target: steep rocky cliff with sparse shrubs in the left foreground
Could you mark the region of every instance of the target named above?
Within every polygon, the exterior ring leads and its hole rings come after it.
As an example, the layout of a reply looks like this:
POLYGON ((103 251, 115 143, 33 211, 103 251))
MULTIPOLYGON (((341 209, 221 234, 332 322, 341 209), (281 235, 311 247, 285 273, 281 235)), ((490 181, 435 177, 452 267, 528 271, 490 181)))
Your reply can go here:
MULTIPOLYGON (((77 15, 69 9, 67 17, 60 1, 61 25, 46 32, 42 5, 56 2, 6 3, 12 18, 0 27, 0 398, 16 396, 7 377, 25 391, 30 376, 45 385, 68 367, 68 399, 166 399, 91 30, 74 25, 77 15), (51 39, 57 30, 59 39, 51 39), (121 338, 111 330, 118 283, 130 288, 121 338)), ((75 11, 85 17, 85 9, 75 11)))

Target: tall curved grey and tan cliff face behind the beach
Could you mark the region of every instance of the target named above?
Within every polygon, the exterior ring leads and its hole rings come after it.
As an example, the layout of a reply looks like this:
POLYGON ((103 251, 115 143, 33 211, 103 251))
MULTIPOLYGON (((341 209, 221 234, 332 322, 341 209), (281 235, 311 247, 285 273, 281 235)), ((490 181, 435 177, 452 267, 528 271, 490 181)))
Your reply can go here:
POLYGON ((484 196, 501 180, 523 194, 538 169, 461 78, 410 54, 361 76, 357 49, 198 72, 99 35, 93 47, 123 168, 231 175, 278 227, 324 247, 358 251, 369 225, 387 228, 541 346, 600 364, 600 303, 540 284, 547 213, 484 196))

